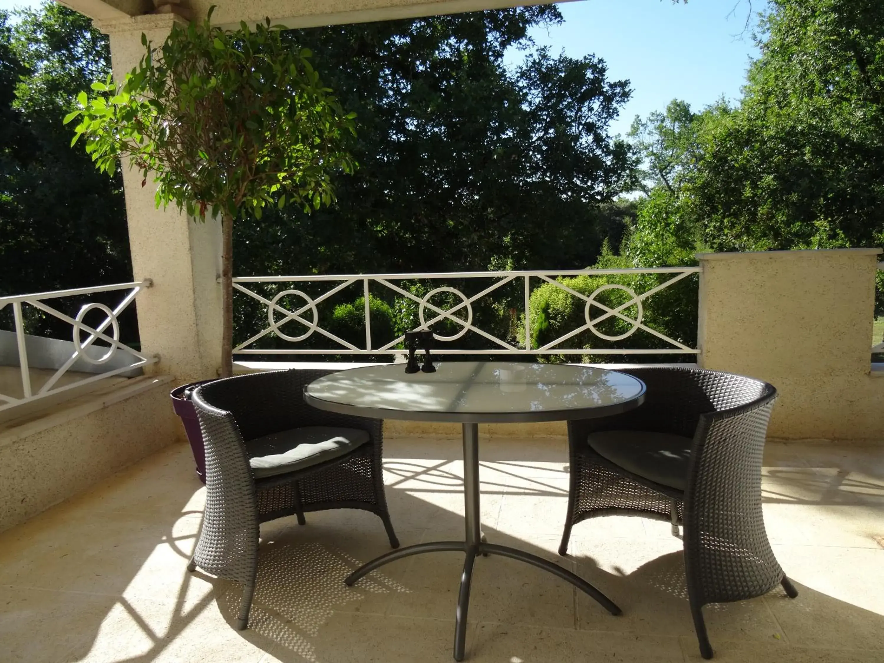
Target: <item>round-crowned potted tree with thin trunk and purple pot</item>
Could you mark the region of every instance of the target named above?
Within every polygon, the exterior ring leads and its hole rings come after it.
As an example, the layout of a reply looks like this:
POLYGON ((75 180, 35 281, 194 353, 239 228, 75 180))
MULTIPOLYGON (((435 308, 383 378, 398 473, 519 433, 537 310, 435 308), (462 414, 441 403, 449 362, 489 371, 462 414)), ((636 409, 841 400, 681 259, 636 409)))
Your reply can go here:
MULTIPOLYGON (((176 204, 195 222, 221 217, 224 327, 221 377, 232 375, 233 222, 260 221, 267 205, 318 209, 334 201, 331 175, 352 172, 346 149, 354 114, 346 113, 310 65, 309 50, 281 39, 283 27, 237 30, 175 25, 156 49, 142 35, 141 63, 115 86, 110 76, 81 92, 73 142, 83 137, 95 166, 118 159, 156 182, 156 205, 176 204)), ((208 376, 207 376, 208 377, 208 376)), ((188 391, 172 392, 202 477, 202 435, 188 391), (187 416, 194 417, 187 425, 187 416)))

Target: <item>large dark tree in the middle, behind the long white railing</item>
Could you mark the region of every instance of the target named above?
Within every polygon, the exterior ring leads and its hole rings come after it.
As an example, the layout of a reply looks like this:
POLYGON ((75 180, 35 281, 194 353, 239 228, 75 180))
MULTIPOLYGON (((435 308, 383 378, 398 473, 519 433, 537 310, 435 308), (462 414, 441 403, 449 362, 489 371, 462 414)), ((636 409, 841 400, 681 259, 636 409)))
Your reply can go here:
POLYGON ((241 226, 237 271, 592 263, 631 174, 607 133, 629 84, 534 48, 528 29, 558 21, 548 5, 291 31, 356 111, 360 168, 334 210, 241 226), (514 70, 509 48, 526 52, 514 70))

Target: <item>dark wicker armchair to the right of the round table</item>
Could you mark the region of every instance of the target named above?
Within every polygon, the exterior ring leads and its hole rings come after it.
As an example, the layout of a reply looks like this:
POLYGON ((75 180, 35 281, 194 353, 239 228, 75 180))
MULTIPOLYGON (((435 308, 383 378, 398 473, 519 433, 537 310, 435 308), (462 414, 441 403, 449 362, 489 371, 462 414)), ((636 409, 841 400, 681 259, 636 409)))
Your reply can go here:
POLYGON ((571 483, 559 547, 598 515, 643 515, 684 526, 690 611, 711 659, 702 607, 797 591, 773 556, 761 513, 761 461, 776 390, 709 370, 629 369, 647 386, 628 413, 568 422, 571 483))

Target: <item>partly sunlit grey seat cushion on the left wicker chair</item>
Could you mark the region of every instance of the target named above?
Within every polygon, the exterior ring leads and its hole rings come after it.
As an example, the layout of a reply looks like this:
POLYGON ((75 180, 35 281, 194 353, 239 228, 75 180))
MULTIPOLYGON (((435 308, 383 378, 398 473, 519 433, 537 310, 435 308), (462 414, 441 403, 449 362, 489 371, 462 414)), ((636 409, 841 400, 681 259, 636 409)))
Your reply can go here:
POLYGON ((248 463, 256 479, 276 476, 331 461, 370 440, 355 428, 305 426, 248 440, 248 463))

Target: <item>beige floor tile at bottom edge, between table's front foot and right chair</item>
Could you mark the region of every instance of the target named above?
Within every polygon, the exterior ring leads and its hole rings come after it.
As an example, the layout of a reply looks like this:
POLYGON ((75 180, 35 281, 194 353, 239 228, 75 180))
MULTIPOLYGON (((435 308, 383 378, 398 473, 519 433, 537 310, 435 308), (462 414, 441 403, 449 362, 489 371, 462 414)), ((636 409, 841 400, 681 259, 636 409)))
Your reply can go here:
POLYGON ((495 663, 681 663, 683 659, 675 636, 590 633, 492 623, 476 627, 475 642, 468 641, 467 656, 470 661, 495 663))

